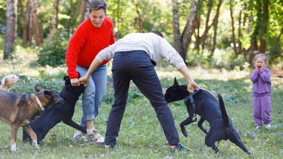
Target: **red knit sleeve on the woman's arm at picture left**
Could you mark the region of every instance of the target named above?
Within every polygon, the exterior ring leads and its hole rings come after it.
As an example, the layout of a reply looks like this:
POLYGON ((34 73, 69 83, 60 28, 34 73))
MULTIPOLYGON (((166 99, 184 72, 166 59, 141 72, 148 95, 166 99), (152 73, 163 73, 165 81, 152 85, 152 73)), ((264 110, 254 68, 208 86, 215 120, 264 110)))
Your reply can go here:
POLYGON ((78 36, 79 31, 80 30, 77 30, 75 33, 76 35, 74 35, 69 41, 68 49, 66 52, 66 63, 68 67, 67 72, 70 79, 79 77, 79 74, 76 72, 77 60, 79 52, 85 44, 85 38, 78 36))

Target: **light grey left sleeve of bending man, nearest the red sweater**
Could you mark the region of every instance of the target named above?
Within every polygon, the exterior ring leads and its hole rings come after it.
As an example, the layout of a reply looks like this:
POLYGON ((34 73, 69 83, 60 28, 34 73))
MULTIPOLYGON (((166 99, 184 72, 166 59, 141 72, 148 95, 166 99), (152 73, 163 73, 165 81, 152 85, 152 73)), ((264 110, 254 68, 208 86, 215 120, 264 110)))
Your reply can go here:
POLYGON ((101 63, 104 60, 111 60, 114 56, 115 49, 117 44, 120 42, 120 40, 116 41, 114 44, 110 45, 109 47, 101 50, 97 55, 96 59, 101 63))

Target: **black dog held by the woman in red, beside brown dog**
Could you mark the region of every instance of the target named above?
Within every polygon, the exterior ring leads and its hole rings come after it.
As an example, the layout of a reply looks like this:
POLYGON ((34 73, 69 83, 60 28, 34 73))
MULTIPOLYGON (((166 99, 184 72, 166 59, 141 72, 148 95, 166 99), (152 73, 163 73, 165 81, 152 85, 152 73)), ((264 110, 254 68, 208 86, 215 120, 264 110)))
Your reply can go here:
MULTIPOLYGON (((79 96, 82 94, 84 86, 81 84, 79 87, 73 87, 69 76, 65 76, 64 80, 65 86, 59 93, 59 97, 65 100, 64 103, 61 105, 54 105, 53 107, 45 110, 40 117, 30 123, 30 127, 37 136, 37 143, 44 139, 48 131, 61 121, 86 133, 86 127, 82 127, 72 120, 72 116, 75 111, 75 104, 79 100, 79 96)), ((22 139, 23 141, 31 141, 30 135, 25 130, 23 130, 22 139)))

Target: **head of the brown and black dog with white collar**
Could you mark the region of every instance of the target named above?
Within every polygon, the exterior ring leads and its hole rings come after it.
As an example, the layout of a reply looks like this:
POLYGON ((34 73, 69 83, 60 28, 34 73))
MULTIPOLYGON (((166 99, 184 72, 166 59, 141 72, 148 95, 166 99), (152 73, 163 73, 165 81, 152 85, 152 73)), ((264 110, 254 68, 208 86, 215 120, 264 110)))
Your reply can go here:
POLYGON ((34 85, 35 90, 38 92, 36 95, 40 99, 44 109, 50 108, 53 105, 61 105, 64 99, 58 96, 58 92, 52 89, 44 90, 34 85))

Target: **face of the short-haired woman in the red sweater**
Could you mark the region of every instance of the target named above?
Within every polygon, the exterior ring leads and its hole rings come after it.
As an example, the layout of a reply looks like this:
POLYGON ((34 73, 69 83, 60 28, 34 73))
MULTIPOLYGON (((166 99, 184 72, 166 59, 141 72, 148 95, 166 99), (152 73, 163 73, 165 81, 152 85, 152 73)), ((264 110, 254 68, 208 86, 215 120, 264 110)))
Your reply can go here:
POLYGON ((105 13, 103 8, 91 11, 89 13, 91 24, 96 28, 101 27, 101 25, 104 21, 105 15, 106 15, 106 13, 105 13))

